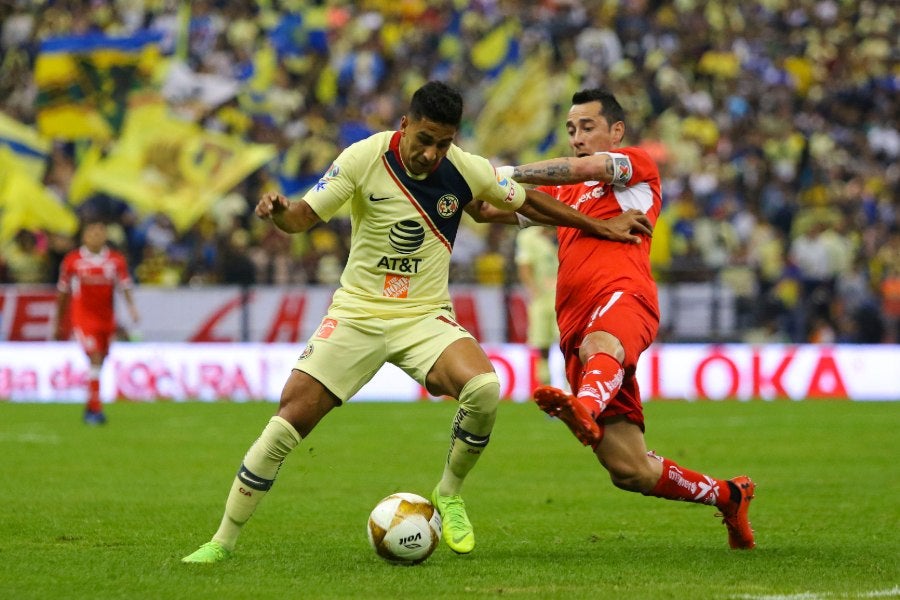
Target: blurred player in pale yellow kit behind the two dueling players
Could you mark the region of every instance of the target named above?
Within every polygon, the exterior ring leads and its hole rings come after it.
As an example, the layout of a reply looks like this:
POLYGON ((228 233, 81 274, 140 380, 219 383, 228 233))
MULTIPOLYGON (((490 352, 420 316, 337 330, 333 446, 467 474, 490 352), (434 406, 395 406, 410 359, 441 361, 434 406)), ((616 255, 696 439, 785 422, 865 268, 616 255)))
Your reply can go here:
POLYGON ((528 345, 538 353, 537 380, 550 383, 547 359, 559 341, 556 325, 556 230, 525 227, 516 235, 516 267, 528 297, 528 345))

